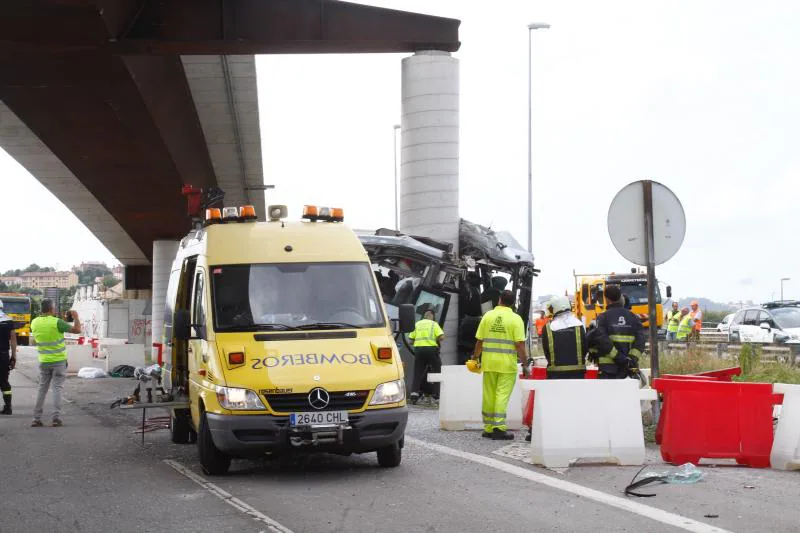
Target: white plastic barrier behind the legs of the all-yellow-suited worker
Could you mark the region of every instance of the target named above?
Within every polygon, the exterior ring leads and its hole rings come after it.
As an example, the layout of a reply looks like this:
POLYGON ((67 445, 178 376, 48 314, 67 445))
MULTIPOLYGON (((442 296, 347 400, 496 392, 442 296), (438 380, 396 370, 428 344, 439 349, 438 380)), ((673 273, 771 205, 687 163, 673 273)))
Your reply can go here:
MULTIPOLYGON (((441 374, 428 374, 428 381, 441 383, 439 391, 439 427, 448 431, 483 429, 483 376, 467 370, 465 365, 446 365, 441 374)), ((520 380, 514 385, 508 401, 506 418, 509 429, 522 426, 520 380)))

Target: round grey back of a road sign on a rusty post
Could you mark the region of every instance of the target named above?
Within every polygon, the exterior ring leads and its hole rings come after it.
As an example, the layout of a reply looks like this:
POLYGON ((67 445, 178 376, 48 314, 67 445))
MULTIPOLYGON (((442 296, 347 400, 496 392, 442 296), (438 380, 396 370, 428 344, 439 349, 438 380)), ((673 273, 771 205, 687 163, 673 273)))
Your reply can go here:
MULTIPOLYGON (((686 235, 686 214, 669 188, 653 181, 653 248, 655 265, 674 256, 686 235)), ((622 188, 608 208, 608 234, 617 251, 634 265, 647 266, 644 182, 622 188)))

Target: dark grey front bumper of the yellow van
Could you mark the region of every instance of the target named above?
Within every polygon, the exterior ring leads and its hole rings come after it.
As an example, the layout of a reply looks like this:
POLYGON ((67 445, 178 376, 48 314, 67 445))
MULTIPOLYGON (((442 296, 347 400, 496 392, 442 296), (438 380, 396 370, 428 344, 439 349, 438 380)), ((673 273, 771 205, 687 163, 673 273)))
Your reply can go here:
POLYGON ((214 445, 232 456, 290 451, 348 454, 373 452, 399 442, 408 408, 351 413, 347 427, 312 430, 290 427, 288 416, 206 413, 206 418, 214 445))

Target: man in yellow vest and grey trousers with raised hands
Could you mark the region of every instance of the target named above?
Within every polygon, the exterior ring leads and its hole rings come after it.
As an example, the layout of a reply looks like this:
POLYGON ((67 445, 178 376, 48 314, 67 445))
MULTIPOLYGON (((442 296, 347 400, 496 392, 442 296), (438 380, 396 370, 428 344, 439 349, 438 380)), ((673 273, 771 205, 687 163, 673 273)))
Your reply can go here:
POLYGON ((53 385, 53 426, 61 421, 61 391, 67 377, 67 347, 64 333, 80 333, 81 322, 75 311, 70 311, 72 324, 56 316, 56 306, 49 298, 42 300, 42 316, 31 322, 31 334, 39 352, 39 392, 33 409, 32 427, 42 427, 44 399, 50 384, 53 385))

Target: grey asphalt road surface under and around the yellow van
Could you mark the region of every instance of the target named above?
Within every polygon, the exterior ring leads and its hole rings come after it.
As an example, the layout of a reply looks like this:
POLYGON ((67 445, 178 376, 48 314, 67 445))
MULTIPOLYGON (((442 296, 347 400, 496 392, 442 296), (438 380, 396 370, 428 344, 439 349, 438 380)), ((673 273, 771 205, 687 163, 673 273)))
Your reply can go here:
MULTIPOLYGON (((628 500, 621 491, 638 468, 537 468, 497 455, 506 443, 440 431, 425 409, 412 411, 395 469, 379 468, 374 454, 320 455, 235 461, 230 475, 209 478, 194 446, 157 431, 143 447, 138 412, 108 409, 133 380, 69 378, 65 426, 29 427, 32 350, 23 349, 19 366, 15 414, 0 418, 1 533, 788 532, 800 523, 800 472, 704 468, 701 483, 628 500)), ((648 462, 665 468, 655 448, 648 462)))

